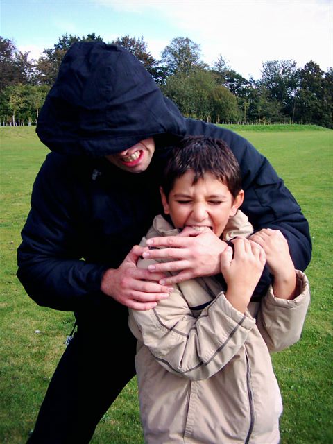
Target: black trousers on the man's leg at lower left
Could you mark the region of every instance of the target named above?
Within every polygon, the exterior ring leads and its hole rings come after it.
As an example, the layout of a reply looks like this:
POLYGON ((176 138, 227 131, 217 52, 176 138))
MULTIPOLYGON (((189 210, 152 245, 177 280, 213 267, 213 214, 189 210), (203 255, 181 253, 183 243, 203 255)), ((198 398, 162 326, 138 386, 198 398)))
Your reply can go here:
POLYGON ((136 340, 127 311, 126 317, 90 321, 78 322, 28 444, 89 443, 103 414, 135 375, 136 340))

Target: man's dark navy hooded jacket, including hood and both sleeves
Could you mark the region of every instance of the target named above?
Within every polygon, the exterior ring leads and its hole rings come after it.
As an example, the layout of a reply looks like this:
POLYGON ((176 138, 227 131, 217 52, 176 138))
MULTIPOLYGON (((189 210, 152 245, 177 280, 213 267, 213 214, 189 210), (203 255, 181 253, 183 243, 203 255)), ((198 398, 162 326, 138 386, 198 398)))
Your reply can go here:
POLYGON ((284 233, 296 268, 309 264, 307 221, 268 160, 230 130, 182 117, 142 63, 119 46, 71 46, 37 134, 51 153, 33 185, 17 276, 39 305, 77 316, 110 307, 112 298, 100 291, 103 272, 121 264, 162 212, 164 156, 185 135, 216 137, 230 146, 241 167, 241 210, 255 230, 284 233), (156 149, 144 173, 127 173, 105 160, 151 136, 156 149))

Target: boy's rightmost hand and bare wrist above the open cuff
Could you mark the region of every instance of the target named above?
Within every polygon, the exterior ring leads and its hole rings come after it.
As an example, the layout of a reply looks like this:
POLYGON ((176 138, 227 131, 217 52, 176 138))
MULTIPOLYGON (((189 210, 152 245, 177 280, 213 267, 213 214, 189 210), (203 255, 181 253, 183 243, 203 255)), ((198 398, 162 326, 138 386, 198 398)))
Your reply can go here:
POLYGON ((271 228, 256 232, 250 239, 265 250, 268 268, 274 276, 274 296, 292 299, 296 292, 296 273, 287 239, 280 230, 271 230, 271 228))

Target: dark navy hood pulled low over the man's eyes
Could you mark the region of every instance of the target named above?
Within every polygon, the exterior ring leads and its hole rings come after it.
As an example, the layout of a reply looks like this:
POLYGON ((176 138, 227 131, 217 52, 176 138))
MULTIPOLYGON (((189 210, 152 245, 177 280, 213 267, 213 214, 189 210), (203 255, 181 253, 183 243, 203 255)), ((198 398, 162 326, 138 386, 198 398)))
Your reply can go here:
POLYGON ((103 42, 78 42, 67 51, 36 128, 52 151, 95 157, 151 136, 160 143, 168 135, 168 144, 185 131, 184 117, 142 63, 103 42))

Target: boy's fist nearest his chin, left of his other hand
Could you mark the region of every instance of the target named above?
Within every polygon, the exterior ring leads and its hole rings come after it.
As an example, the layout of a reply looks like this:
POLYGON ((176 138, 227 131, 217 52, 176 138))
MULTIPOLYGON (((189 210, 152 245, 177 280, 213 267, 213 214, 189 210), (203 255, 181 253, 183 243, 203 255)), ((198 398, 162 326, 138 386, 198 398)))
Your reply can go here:
POLYGON ((234 239, 232 243, 234 257, 231 247, 221 254, 221 273, 228 285, 225 297, 235 309, 244 313, 264 270, 266 257, 261 246, 253 241, 234 239))

